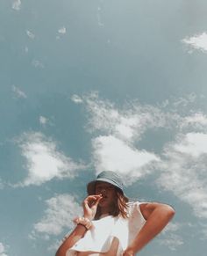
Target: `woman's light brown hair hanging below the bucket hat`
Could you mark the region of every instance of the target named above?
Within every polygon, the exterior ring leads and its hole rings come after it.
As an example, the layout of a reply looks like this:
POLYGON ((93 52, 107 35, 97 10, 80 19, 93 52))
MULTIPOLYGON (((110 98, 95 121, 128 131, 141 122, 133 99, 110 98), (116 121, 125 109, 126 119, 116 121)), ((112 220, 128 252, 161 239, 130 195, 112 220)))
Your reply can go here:
MULTIPOLYGON (((129 199, 125 196, 125 194, 123 194, 123 192, 119 188, 115 187, 115 191, 116 191, 116 200, 112 205, 111 211, 109 214, 111 216, 122 216, 123 218, 127 218, 128 217, 127 202, 129 201, 129 199)), ((95 220, 98 220, 100 216, 101 216, 101 208, 97 206, 95 220)))

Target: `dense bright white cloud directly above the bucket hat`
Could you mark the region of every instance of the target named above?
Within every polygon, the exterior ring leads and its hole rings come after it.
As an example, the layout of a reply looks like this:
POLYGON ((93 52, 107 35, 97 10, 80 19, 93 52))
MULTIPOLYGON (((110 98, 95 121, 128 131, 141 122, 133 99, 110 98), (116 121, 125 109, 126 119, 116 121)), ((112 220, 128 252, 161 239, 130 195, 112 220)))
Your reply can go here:
POLYGON ((130 145, 109 136, 99 136, 93 141, 96 171, 111 170, 127 175, 128 183, 150 172, 150 166, 159 157, 146 150, 133 149, 130 145))

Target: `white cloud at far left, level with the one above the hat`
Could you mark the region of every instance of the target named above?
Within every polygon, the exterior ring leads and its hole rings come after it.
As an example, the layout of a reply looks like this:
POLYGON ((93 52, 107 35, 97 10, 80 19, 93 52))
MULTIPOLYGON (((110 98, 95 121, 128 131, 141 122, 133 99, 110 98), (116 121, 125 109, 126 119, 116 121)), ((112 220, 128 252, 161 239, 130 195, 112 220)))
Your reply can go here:
POLYGON ((18 143, 28 172, 27 178, 18 186, 41 185, 54 178, 73 178, 77 170, 84 168, 57 150, 55 142, 41 133, 25 133, 18 143))

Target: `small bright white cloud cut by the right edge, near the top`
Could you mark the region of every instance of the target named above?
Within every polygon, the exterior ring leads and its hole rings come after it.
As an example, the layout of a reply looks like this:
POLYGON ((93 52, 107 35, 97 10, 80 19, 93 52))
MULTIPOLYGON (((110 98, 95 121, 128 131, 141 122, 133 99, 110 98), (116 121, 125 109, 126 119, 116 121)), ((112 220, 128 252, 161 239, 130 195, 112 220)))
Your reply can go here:
POLYGON ((182 42, 188 44, 191 48, 195 48, 203 52, 207 51, 207 33, 205 32, 185 38, 182 42))

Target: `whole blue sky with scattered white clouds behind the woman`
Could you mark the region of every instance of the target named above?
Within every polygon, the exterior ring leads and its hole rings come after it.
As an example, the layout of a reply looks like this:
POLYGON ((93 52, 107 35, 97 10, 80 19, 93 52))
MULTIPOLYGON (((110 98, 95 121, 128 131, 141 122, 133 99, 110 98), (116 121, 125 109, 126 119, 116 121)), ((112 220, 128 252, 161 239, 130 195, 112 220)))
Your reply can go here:
POLYGON ((0 256, 54 255, 102 170, 176 210, 140 256, 206 255, 206 10, 0 1, 0 256))

